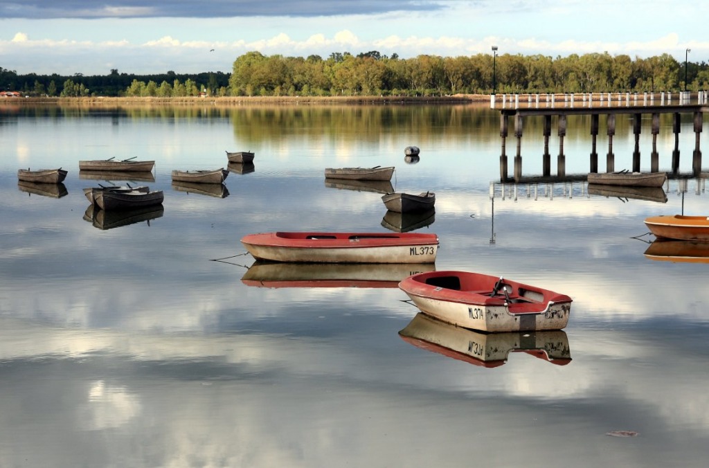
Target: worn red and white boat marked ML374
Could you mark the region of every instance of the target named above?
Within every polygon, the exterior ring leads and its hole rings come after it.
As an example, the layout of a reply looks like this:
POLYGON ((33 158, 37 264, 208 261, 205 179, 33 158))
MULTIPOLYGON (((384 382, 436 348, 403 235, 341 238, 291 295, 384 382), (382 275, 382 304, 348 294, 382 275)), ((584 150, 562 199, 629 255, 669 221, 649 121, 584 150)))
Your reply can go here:
POLYGON ((399 288, 423 313, 484 332, 561 330, 571 298, 489 274, 440 271, 414 274, 399 288))

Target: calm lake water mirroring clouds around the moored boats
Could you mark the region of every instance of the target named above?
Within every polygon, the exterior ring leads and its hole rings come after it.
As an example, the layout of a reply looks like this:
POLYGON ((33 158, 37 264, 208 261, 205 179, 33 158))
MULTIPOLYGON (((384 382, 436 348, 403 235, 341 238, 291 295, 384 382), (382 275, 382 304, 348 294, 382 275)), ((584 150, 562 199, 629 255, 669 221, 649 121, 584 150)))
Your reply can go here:
MULTIPOLYGON (((525 122, 525 174, 542 172, 541 128, 525 122)), ((671 128, 657 140, 663 170, 671 128)), ((600 170, 606 145, 601 132, 600 170)), ((616 170, 632 168, 633 145, 619 117, 616 170)), ((475 106, 0 106, 0 148, 1 466, 705 466, 709 265, 649 259, 643 223, 709 214, 703 179, 671 179, 650 200, 584 182, 491 186, 499 115, 475 106), (256 153, 233 167, 228 196, 173 188, 172 169, 226 167, 225 150, 256 153), (163 190, 162 211, 91 220, 82 189, 106 181, 78 162, 109 157, 156 161, 154 181, 113 182, 163 190), (435 269, 568 294, 566 329, 486 336, 427 321, 396 288, 409 267, 249 268, 248 233, 389 232, 383 221, 401 220, 385 220, 381 193, 323 177, 376 165, 396 166, 397 191, 436 192, 435 216, 403 220, 439 235, 435 269), (68 169, 67 193, 21 189, 21 167, 68 169), (317 281, 328 274, 351 283, 317 281), (361 282, 372 278, 393 287, 361 282)), ((511 172, 515 138, 507 148, 511 172)), ((691 119, 679 148, 689 172, 691 119)), ((569 118, 566 173, 588 172, 590 152, 588 121, 569 118)))

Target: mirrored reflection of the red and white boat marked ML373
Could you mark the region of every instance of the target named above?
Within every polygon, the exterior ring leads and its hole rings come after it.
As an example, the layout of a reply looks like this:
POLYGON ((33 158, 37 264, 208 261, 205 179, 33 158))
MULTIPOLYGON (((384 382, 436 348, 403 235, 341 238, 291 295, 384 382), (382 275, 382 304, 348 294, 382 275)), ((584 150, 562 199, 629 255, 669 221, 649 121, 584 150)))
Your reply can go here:
POLYGON ((265 288, 396 288, 412 274, 432 271, 432 263, 255 262, 241 282, 265 288))

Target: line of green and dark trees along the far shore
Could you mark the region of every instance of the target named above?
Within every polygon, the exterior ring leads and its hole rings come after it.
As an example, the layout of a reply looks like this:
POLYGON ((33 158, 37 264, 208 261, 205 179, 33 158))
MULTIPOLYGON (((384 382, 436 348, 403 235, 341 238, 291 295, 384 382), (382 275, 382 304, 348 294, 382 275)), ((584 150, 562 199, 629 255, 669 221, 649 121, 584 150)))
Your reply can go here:
POLYGON ((608 52, 546 55, 418 55, 333 52, 284 57, 247 52, 230 74, 17 74, 0 67, 0 89, 30 96, 442 96, 613 91, 697 91, 709 88, 709 65, 669 54, 632 59, 608 52))

